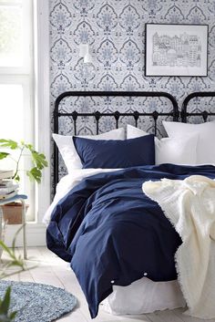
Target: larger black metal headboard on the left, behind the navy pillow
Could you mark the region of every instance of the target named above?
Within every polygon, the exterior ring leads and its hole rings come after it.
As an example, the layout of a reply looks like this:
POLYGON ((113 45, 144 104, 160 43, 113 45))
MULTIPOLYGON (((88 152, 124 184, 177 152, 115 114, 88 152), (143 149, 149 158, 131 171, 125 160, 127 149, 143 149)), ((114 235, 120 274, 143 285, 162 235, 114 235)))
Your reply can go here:
MULTIPOLYGON (((171 116, 173 120, 178 121, 179 120, 179 108, 177 100, 166 92, 140 92, 140 91, 131 91, 131 92, 125 92, 125 91, 116 91, 116 92, 110 92, 110 91, 67 91, 62 94, 60 94, 55 103, 55 109, 54 109, 54 132, 58 133, 58 122, 60 117, 71 117, 74 122, 74 134, 77 135, 77 118, 78 117, 95 117, 96 119, 96 126, 97 126, 97 133, 99 130, 99 119, 101 117, 114 117, 116 119, 116 128, 118 129, 118 119, 120 117, 125 116, 131 116, 135 119, 136 127, 138 126, 138 118, 141 116, 148 116, 154 119, 155 122, 155 134, 157 132, 157 119, 159 116, 171 116), (153 112, 139 112, 139 111, 133 111, 128 113, 121 113, 118 110, 115 112, 99 112, 95 111, 93 113, 79 113, 76 110, 73 110, 71 112, 62 112, 59 111, 59 105, 60 102, 67 98, 67 97, 150 97, 150 98, 167 98, 170 100, 173 109, 170 112, 158 112, 154 110, 153 112)), ((54 147, 54 187, 56 188, 56 183, 58 182, 58 151, 55 144, 54 147)))

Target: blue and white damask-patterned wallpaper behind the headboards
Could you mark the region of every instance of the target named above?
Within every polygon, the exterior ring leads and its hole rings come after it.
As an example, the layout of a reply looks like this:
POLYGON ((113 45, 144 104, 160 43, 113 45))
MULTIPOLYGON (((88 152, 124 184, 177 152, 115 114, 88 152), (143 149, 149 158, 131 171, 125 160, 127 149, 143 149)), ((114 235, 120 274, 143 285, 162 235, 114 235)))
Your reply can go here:
MULTIPOLYGON (((190 92, 215 90, 215 0, 49 0, 51 109, 66 90, 168 91, 179 101, 190 92), (145 77, 145 24, 209 25, 208 77, 145 77), (79 44, 90 47, 93 64, 83 64, 79 44)), ((207 101, 208 103, 209 101, 207 101)), ((159 99, 77 99, 65 103, 79 110, 167 109, 159 99)), ((209 102, 210 103, 210 102, 209 102)), ((205 102, 192 109, 205 109, 205 102)), ((75 109, 75 108, 74 108, 75 109)), ((209 109, 212 109, 210 103, 209 109)), ((150 121, 143 120, 146 130, 150 121)), ((68 119, 61 131, 71 130, 68 119)), ((112 120, 102 124, 109 130, 112 120)), ((93 120, 79 131, 94 133, 93 120)))

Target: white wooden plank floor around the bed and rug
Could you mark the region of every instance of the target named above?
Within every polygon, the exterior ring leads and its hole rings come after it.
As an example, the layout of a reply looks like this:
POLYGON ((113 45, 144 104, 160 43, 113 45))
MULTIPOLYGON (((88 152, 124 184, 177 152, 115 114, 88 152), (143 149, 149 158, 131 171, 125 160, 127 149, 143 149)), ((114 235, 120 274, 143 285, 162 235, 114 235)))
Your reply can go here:
MULTIPOLYGON (((17 249, 17 252, 21 252, 20 254, 22 254, 21 249, 17 249)), ((88 313, 85 296, 78 285, 76 276, 67 266, 67 263, 56 257, 55 254, 49 252, 46 247, 28 248, 28 259, 27 265, 37 265, 36 268, 21 274, 12 275, 7 279, 45 283, 52 286, 63 287, 74 296, 77 296, 78 306, 76 310, 63 318, 58 319, 57 321, 59 322, 215 322, 215 319, 201 320, 199 318, 187 317, 182 314, 184 309, 165 310, 148 315, 126 317, 111 316, 100 310, 97 318, 92 320, 88 313)))

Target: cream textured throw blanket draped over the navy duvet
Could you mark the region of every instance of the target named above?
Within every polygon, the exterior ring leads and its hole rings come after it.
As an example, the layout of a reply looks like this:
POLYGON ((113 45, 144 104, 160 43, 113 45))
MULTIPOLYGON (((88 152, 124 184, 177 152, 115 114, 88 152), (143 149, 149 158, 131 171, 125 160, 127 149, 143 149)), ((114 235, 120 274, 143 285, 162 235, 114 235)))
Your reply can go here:
POLYGON ((145 182, 143 192, 157 203, 179 233, 175 255, 186 314, 215 317, 215 181, 200 175, 145 182))

